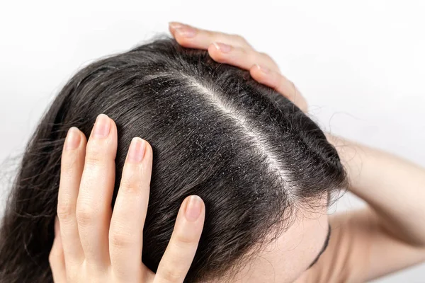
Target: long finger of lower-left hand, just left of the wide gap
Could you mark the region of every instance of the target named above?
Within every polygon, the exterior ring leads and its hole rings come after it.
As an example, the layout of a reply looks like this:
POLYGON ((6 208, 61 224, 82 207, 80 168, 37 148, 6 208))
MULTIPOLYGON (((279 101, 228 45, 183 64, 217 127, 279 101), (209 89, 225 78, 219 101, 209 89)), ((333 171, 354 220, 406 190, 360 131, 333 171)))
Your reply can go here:
POLYGON ((137 275, 142 275, 142 236, 151 172, 152 148, 136 137, 128 150, 109 230, 111 266, 118 281, 142 282, 137 275))

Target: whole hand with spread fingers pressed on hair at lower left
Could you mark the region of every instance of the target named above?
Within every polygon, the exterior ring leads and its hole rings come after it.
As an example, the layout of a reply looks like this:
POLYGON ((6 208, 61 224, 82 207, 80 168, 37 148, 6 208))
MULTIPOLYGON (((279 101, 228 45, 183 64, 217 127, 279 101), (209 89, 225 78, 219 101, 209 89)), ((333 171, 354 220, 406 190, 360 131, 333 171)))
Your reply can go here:
POLYGON ((49 256, 53 279, 55 283, 183 282, 203 229, 203 201, 197 196, 183 201, 155 275, 142 263, 152 147, 140 138, 132 140, 112 212, 117 143, 115 122, 106 115, 98 116, 88 142, 79 129, 69 129, 49 256))

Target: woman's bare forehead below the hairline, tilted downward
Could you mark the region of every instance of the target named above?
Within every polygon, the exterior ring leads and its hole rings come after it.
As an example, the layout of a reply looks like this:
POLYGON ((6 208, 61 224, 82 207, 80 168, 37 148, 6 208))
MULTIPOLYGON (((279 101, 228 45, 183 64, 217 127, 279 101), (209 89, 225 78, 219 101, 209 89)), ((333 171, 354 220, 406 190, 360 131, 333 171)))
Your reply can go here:
MULTIPOLYGON (((327 200, 322 200, 326 207, 327 200)), ((236 277, 214 283, 294 282, 324 248, 329 231, 327 209, 295 216, 295 222, 276 241, 268 244, 236 277)))

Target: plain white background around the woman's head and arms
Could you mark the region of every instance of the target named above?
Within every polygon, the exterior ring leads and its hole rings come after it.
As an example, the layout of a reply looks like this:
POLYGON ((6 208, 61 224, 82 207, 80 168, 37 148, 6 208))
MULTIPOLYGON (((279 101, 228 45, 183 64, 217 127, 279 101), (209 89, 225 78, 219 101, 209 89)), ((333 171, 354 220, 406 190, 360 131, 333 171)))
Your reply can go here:
MULTIPOLYGON (((169 21, 243 35, 295 81, 324 129, 425 166, 424 14, 424 1, 1 0, 2 175, 77 69, 167 33, 169 21)), ((338 209, 359 205, 344 197, 338 209)), ((378 282, 423 283, 425 265, 378 282)))

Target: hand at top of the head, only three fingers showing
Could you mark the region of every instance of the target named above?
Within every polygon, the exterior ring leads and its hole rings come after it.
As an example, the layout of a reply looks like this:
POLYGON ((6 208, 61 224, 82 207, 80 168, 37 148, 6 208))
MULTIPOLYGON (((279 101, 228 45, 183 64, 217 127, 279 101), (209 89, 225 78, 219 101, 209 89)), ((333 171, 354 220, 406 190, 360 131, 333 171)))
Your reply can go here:
POLYGON ((274 88, 307 112, 307 101, 295 84, 280 74, 276 62, 268 54, 257 52, 240 35, 228 35, 210 30, 200 30, 183 23, 169 23, 169 30, 183 47, 208 50, 216 62, 249 70, 252 78, 274 88))

